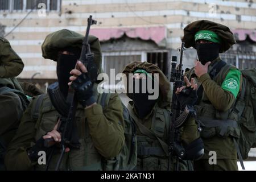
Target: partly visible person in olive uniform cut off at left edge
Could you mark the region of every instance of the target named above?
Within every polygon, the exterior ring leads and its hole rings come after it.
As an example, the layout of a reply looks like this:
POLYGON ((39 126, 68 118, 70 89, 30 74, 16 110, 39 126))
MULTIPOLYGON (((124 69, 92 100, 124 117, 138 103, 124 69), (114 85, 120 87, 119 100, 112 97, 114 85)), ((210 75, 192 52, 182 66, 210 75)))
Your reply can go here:
POLYGON ((0 37, 0 170, 6 147, 19 126, 28 100, 15 76, 24 64, 5 38, 0 37))

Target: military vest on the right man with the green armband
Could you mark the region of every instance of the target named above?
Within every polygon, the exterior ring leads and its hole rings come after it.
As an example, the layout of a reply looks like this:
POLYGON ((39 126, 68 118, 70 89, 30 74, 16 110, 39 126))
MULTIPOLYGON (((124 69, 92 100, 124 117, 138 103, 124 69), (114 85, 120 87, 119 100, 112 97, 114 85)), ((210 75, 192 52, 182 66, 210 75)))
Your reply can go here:
MULTIPOLYGON (((212 79, 221 86, 230 69, 237 68, 230 64, 225 64, 224 67, 222 67, 220 71, 213 76, 212 79)), ((209 74, 212 74, 213 72, 216 72, 214 70, 214 65, 208 68, 209 74)), ((203 87, 195 75, 195 68, 192 68, 188 71, 187 77, 189 80, 194 77, 197 81, 197 84, 203 87)), ((227 111, 220 111, 215 109, 205 92, 203 92, 199 104, 195 105, 195 109, 201 123, 203 123, 203 130, 200 132, 200 137, 211 138, 218 135, 219 137, 224 138, 228 136, 239 138, 240 131, 237 125, 238 118, 237 115, 232 112, 232 107, 227 111)))

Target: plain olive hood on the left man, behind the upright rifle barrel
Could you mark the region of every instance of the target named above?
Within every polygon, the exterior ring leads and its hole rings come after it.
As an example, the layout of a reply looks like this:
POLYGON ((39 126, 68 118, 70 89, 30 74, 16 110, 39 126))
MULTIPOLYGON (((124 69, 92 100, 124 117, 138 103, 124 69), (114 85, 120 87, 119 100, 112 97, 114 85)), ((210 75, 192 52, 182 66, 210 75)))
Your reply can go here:
MULTIPOLYGON (((84 35, 77 32, 63 29, 46 36, 42 44, 42 53, 45 59, 56 61, 59 51, 63 51, 68 47, 75 47, 82 49, 82 40, 84 35)), ((94 53, 94 61, 98 69, 101 69, 101 46, 100 41, 96 36, 89 35, 90 51, 94 53)))

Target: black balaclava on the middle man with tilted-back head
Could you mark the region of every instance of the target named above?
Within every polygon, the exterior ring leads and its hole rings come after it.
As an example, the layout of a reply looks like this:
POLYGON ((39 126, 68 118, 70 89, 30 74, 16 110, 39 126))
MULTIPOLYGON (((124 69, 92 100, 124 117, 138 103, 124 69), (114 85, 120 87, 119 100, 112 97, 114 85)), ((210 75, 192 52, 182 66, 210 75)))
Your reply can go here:
MULTIPOLYGON (((146 78, 147 79, 147 78, 146 78)), ((147 86, 147 80, 146 80, 146 86, 147 86)), ((154 82, 152 83, 152 89, 154 89, 154 82)), ((139 93, 135 93, 135 78, 133 79, 133 102, 135 105, 135 108, 137 110, 139 118, 146 117, 147 114, 150 113, 152 110, 152 107, 155 105, 156 100, 149 100, 148 96, 153 95, 154 93, 150 94, 147 92, 142 93, 142 79, 139 78, 139 93)))

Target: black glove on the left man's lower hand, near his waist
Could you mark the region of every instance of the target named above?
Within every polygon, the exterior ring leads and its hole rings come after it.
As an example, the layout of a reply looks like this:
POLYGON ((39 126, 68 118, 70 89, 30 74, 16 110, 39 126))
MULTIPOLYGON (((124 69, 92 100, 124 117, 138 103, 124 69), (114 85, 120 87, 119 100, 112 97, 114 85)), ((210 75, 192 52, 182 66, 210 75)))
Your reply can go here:
POLYGON ((38 161, 38 158, 40 157, 38 155, 39 151, 45 151, 46 153, 48 151, 48 148, 44 147, 44 139, 43 139, 43 137, 41 137, 39 140, 37 140, 36 143, 34 144, 34 146, 32 146, 31 148, 27 149, 28 158, 30 158, 30 160, 32 162, 38 161))

